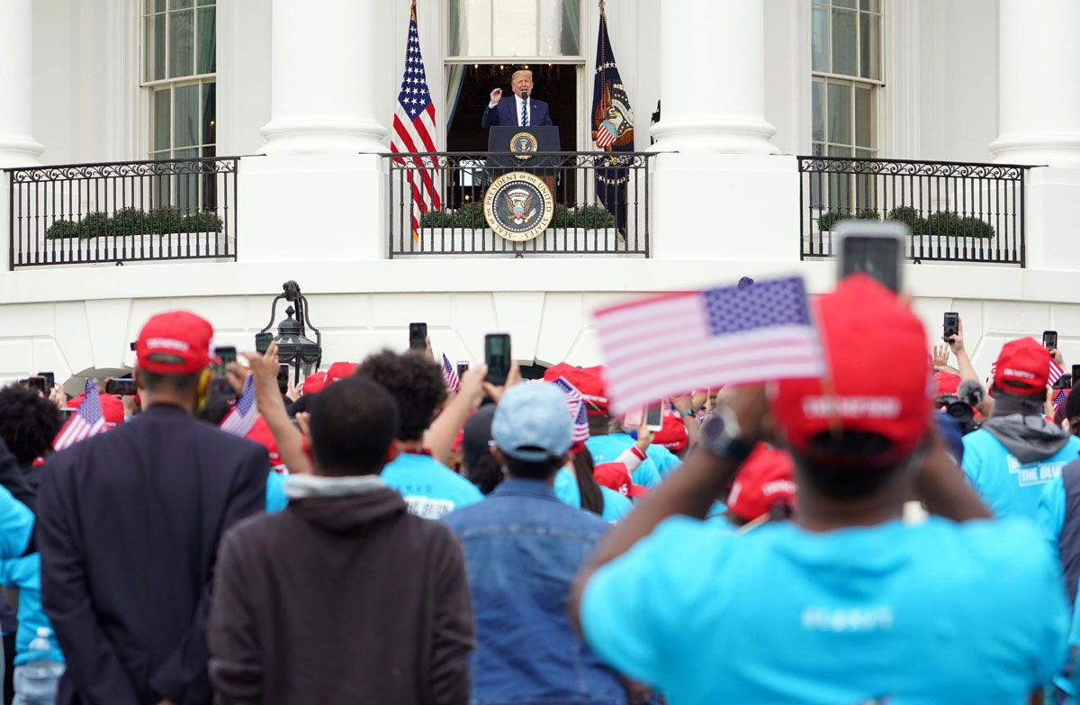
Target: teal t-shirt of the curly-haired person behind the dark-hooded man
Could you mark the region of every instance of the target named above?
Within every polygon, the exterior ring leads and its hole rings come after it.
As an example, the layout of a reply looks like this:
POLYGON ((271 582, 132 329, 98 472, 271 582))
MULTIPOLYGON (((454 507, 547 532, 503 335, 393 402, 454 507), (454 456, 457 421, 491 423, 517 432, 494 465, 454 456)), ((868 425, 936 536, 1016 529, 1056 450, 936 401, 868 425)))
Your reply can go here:
POLYGON ((401 492, 411 514, 427 519, 442 519, 484 500, 475 484, 430 455, 418 453, 401 453, 388 463, 382 481, 401 492))

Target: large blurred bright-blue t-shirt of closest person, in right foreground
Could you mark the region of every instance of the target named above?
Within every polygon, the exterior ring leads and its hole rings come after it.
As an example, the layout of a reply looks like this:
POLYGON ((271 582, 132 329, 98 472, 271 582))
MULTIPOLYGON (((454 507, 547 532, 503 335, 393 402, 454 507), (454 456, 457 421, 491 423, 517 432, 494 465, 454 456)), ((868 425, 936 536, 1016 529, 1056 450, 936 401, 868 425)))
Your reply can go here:
POLYGON ((1026 520, 735 534, 674 517, 593 575, 581 625, 671 705, 1021 705, 1063 663, 1069 622, 1026 520))

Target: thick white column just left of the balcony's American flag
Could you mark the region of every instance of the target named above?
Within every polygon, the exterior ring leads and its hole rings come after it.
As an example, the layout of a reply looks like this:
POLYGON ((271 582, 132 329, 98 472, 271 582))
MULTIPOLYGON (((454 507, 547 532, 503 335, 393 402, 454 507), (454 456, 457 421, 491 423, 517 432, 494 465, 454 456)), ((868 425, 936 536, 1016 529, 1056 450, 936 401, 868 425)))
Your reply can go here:
POLYGON ((273 0, 267 155, 387 150, 375 114, 376 1, 273 0))

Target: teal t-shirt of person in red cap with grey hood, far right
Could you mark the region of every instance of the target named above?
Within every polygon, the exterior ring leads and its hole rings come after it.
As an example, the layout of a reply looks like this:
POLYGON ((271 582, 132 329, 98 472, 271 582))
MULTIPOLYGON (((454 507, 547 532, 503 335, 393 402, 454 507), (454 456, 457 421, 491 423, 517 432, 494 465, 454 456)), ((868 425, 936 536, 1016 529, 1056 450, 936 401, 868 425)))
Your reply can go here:
POLYGON ((981 428, 963 437, 963 473, 996 517, 1036 519, 1043 488, 1080 455, 1080 438, 1069 436, 1059 451, 1035 463, 1021 464, 990 431, 981 428))

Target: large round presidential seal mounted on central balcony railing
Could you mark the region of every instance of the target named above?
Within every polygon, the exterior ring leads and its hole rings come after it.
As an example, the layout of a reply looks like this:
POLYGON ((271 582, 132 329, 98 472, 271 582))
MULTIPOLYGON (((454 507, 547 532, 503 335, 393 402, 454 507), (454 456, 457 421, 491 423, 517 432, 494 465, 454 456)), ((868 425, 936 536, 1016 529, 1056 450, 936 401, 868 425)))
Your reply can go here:
POLYGON ((555 202, 543 181, 523 171, 499 176, 484 197, 484 220, 496 235, 511 242, 526 242, 551 223, 555 202))

